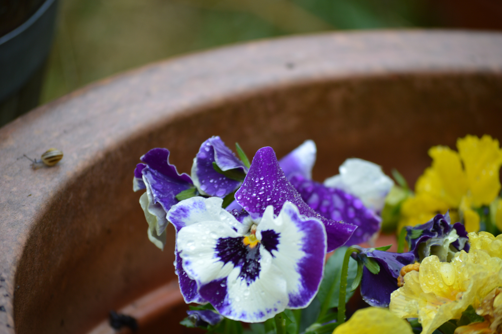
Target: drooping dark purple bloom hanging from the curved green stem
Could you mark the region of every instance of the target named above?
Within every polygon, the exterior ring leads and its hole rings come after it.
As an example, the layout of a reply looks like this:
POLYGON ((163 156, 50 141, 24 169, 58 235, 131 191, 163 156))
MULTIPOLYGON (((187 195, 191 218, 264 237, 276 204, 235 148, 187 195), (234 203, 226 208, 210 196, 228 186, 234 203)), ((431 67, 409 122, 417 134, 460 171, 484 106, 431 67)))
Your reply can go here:
POLYGON ((401 268, 415 262, 413 252, 391 253, 374 249, 363 249, 358 256, 372 258, 380 265, 380 272, 372 274, 363 268, 361 279, 362 299, 371 306, 388 307, 391 293, 398 289, 401 268))

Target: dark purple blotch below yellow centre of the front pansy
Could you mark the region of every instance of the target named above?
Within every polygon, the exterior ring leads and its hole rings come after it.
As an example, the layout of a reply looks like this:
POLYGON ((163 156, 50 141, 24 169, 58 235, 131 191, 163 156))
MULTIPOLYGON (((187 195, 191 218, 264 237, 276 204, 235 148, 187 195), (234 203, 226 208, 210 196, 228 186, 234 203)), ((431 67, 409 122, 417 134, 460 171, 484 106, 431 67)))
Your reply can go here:
POLYGON ((260 275, 260 247, 248 247, 242 242, 243 239, 244 237, 219 238, 215 250, 220 261, 240 267, 238 277, 249 285, 260 275))

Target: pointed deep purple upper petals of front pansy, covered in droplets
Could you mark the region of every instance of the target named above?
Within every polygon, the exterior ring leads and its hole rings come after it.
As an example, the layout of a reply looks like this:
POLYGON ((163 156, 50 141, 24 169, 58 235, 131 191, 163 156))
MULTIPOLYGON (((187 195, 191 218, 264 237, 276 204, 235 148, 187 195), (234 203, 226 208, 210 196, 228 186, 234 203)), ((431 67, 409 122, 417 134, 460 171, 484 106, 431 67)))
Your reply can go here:
POLYGON ((260 217, 268 205, 273 205, 274 213, 279 214, 286 201, 292 202, 301 214, 323 222, 328 252, 344 245, 357 228, 351 224, 327 219, 305 203, 284 175, 271 147, 257 151, 244 182, 235 193, 235 199, 253 218, 260 217))

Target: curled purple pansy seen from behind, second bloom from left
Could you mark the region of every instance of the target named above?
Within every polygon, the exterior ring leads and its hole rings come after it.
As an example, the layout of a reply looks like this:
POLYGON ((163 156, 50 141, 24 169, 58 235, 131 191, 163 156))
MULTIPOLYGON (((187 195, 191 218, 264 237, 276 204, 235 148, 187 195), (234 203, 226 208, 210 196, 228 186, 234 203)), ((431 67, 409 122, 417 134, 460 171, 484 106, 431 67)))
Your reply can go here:
MULTIPOLYGON (((200 146, 199 152, 196 155, 196 174, 199 180, 200 190, 204 191, 209 196, 225 197, 226 195, 237 189, 237 187, 240 185, 240 181, 229 179, 225 175, 220 174, 214 170, 213 162, 216 162, 216 160, 215 148, 212 143, 214 143, 215 140, 212 139, 215 139, 215 137, 206 140, 200 146)), ((219 137, 217 137, 217 139, 219 142, 221 142, 221 140, 219 140, 219 137)), ((224 144, 223 147, 226 148, 224 144)), ((229 151, 228 148, 226 149, 229 151)), ((232 153, 230 152, 230 155, 231 154, 232 153)), ((228 159, 223 159, 224 162, 228 162, 227 160, 228 159)), ((218 165, 218 162, 216 162, 216 164, 218 165)), ((225 166, 228 166, 228 164, 226 164, 225 166)), ((228 170, 223 169, 220 165, 218 165, 218 167, 221 168, 221 170, 228 170)))

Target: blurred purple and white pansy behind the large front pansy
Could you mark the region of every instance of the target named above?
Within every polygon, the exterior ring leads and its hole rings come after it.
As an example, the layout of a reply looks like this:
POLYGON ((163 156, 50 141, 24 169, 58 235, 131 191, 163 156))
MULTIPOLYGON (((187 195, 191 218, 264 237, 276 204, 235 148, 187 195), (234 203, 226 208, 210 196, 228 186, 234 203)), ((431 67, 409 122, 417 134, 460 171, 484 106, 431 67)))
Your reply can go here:
POLYGON ((317 213, 358 227, 346 246, 377 237, 382 219, 376 211, 382 209, 380 202, 384 202, 394 182, 378 165, 362 159, 347 159, 339 168, 340 174, 322 184, 312 180, 315 159, 315 144, 307 140, 279 164, 302 199, 317 213))

